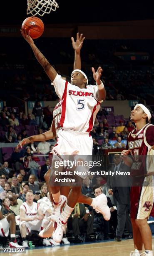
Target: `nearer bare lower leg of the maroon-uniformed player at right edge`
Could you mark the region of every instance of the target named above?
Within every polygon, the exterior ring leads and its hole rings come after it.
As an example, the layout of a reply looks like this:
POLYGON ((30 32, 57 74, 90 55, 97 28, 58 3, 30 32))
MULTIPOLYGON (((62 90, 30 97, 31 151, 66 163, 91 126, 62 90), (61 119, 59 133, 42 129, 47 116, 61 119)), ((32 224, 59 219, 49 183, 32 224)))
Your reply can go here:
POLYGON ((141 233, 145 250, 152 251, 152 232, 147 223, 147 218, 144 220, 136 219, 135 223, 141 233))

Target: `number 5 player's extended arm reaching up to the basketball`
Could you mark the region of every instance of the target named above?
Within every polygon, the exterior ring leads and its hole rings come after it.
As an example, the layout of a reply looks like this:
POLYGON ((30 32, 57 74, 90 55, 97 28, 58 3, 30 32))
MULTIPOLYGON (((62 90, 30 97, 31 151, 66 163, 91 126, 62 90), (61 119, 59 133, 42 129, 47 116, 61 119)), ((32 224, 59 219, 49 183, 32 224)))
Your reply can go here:
POLYGON ((51 66, 49 61, 45 58, 45 56, 40 52, 40 50, 34 44, 34 41, 30 37, 30 31, 28 31, 28 34, 27 34, 26 28, 25 29, 22 28, 21 34, 22 34, 23 38, 27 41, 27 43, 30 44, 37 61, 41 64, 41 66, 44 68, 47 76, 53 82, 57 75, 56 70, 54 69, 54 67, 51 66))

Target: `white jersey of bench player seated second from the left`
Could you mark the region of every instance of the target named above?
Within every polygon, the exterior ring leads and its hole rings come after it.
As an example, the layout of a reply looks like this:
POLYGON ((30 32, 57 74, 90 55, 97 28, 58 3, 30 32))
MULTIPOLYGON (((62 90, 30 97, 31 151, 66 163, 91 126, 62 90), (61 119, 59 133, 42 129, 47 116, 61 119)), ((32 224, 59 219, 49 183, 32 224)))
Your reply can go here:
POLYGON ((38 210, 39 205, 36 202, 33 202, 32 206, 29 206, 27 202, 24 202, 21 206, 20 209, 25 211, 25 218, 32 218, 37 215, 37 210, 38 210))

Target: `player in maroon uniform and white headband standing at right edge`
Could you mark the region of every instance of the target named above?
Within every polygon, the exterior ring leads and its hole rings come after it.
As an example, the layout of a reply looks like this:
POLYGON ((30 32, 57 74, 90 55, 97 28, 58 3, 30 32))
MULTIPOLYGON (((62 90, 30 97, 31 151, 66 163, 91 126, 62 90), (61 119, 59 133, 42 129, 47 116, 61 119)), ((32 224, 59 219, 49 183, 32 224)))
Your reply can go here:
POLYGON ((152 173, 154 162, 151 161, 154 156, 154 125, 149 124, 151 118, 152 110, 149 106, 137 104, 134 107, 130 119, 135 123, 136 128, 129 133, 126 150, 121 153, 124 163, 131 167, 132 175, 138 175, 142 179, 142 184, 131 189, 134 251, 130 253, 130 256, 153 255, 152 233, 147 223, 147 219, 152 215, 154 200, 154 177, 152 175, 154 174, 152 173), (137 157, 141 159, 140 163, 139 160, 135 160, 137 157), (145 183, 148 186, 144 186, 145 183), (141 253, 143 244, 145 252, 141 253))

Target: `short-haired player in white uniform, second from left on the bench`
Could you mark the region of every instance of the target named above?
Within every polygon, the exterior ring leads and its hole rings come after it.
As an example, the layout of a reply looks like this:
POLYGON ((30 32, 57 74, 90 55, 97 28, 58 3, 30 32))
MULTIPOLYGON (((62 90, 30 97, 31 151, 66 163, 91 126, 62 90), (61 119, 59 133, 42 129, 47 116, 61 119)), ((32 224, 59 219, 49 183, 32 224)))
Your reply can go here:
POLYGON ((26 236, 31 230, 41 230, 44 215, 36 202, 33 202, 34 195, 32 190, 26 193, 26 202, 20 206, 20 233, 22 246, 28 247, 26 236))

